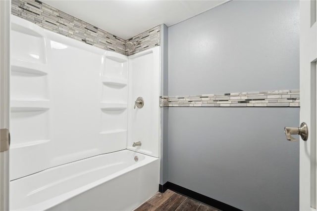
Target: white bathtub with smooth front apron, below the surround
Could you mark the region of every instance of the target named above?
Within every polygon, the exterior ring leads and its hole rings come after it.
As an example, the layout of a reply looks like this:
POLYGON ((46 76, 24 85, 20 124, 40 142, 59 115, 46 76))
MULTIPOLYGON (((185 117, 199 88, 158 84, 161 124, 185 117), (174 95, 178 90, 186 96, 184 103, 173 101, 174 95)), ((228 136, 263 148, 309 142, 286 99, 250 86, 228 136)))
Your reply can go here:
POLYGON ((158 189, 159 159, 122 150, 11 181, 10 210, 128 211, 158 189))

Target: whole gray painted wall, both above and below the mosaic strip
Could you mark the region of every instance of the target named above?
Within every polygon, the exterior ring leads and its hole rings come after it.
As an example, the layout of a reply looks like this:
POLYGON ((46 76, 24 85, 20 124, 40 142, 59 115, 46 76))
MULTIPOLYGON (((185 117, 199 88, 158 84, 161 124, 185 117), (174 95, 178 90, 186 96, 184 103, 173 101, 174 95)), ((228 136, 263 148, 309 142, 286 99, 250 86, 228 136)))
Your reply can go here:
MULTIPOLYGON (((299 2, 230 1, 168 28, 168 94, 299 88, 299 2)), ((299 108, 169 108, 168 181, 246 211, 299 209, 299 108)))

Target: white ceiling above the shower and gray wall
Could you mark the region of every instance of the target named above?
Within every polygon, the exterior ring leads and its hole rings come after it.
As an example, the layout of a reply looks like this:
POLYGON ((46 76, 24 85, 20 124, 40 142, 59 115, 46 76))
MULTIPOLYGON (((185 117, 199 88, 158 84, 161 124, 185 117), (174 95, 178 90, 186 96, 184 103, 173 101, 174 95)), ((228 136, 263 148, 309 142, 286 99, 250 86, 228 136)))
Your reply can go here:
POLYGON ((125 40, 159 24, 174 25, 227 0, 42 0, 125 40))

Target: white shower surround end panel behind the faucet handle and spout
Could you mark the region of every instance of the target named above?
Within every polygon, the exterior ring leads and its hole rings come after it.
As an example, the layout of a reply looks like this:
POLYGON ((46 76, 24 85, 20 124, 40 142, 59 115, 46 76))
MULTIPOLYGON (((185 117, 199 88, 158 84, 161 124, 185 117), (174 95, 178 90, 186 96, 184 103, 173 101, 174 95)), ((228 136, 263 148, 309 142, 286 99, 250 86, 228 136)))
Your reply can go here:
POLYGON ((129 107, 127 149, 159 157, 159 47, 129 56, 129 107), (157 70, 157 71, 149 71, 157 70), (144 99, 142 109, 134 108, 138 97, 144 99), (151 140, 151 141, 149 141, 151 140), (141 141, 142 146, 133 147, 141 141))

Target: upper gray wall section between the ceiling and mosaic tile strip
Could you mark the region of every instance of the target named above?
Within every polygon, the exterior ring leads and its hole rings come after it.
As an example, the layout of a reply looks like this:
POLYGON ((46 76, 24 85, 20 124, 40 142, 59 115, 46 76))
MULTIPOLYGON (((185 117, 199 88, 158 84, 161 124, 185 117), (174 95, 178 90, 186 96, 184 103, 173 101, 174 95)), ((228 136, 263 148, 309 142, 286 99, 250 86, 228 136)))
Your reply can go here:
POLYGON ((299 88, 298 1, 230 1, 168 39, 169 95, 299 88))

